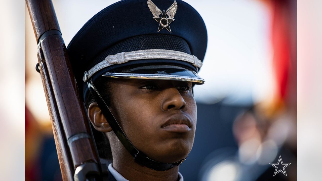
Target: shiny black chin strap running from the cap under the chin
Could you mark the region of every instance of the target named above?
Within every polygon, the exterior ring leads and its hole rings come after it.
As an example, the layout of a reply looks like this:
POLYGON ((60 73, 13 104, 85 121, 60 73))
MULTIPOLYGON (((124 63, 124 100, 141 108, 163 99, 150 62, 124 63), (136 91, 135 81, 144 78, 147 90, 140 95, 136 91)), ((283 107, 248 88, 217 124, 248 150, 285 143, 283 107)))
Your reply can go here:
POLYGON ((150 159, 144 153, 137 150, 137 148, 135 148, 133 146, 133 144, 130 142, 130 140, 128 140, 128 138, 124 134, 120 125, 118 124, 118 122, 114 118, 113 114, 109 110, 109 107, 106 105, 105 101, 100 96, 98 90, 95 88, 92 79, 87 81, 87 85, 90 90, 90 93, 94 97, 99 108, 102 110, 103 115, 109 121, 109 125, 113 129, 113 131, 116 134, 116 136, 118 137, 118 139, 124 145, 124 147, 134 157, 135 162, 137 162, 140 165, 146 166, 150 169, 153 169, 153 170, 165 171, 165 170, 169 170, 170 168, 173 168, 175 166, 179 166, 188 157, 188 155, 187 155, 186 157, 184 157, 183 159, 181 159, 180 161, 175 162, 175 163, 162 163, 162 162, 158 162, 158 161, 154 161, 154 160, 150 159))

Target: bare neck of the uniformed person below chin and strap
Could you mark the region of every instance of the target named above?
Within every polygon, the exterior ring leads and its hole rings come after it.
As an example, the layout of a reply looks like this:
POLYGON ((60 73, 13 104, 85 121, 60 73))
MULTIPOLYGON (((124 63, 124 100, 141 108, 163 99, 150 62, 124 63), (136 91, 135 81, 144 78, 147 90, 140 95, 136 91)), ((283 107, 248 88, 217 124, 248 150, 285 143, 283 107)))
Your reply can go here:
POLYGON ((124 178, 131 181, 177 181, 179 172, 179 167, 174 167, 166 171, 151 170, 137 164, 129 153, 125 155, 113 155, 113 168, 124 178))

